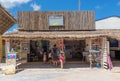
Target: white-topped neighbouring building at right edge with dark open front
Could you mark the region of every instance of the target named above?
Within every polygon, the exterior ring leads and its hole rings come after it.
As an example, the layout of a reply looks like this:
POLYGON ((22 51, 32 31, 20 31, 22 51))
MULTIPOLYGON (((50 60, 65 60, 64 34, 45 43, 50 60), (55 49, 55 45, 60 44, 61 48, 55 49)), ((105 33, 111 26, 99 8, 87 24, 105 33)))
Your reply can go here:
POLYGON ((110 41, 110 54, 113 60, 120 60, 120 17, 119 16, 110 16, 97 20, 96 22, 97 30, 107 30, 107 31, 118 31, 118 37, 114 39, 109 39, 110 41))

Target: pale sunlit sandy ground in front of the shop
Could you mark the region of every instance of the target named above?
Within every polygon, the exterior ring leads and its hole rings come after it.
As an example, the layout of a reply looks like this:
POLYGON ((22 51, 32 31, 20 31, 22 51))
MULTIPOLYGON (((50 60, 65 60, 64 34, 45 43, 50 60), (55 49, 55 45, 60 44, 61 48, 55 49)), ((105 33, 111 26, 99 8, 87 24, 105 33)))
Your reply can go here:
MULTIPOLYGON (((41 66, 41 65, 40 65, 41 66)), ((111 71, 89 67, 71 67, 65 69, 32 66, 24 68, 14 75, 0 74, 0 81, 120 81, 120 67, 116 66, 111 71)), ((75 65, 70 65, 75 66, 75 65)), ((24 66, 25 67, 25 66, 24 66)))

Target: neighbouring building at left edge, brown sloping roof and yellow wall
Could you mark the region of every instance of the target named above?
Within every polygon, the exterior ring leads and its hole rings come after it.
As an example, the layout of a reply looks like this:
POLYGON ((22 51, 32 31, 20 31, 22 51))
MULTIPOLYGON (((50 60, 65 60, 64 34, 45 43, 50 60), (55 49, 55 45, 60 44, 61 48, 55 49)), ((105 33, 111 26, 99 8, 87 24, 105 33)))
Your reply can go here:
POLYGON ((5 39, 1 36, 14 24, 16 19, 0 5, 0 61, 5 58, 5 39))

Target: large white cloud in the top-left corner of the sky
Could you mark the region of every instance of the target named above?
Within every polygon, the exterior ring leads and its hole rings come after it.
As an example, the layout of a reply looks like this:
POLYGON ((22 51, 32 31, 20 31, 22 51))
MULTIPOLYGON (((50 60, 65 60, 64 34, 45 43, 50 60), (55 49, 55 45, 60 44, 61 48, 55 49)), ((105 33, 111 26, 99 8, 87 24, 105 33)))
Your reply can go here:
POLYGON ((25 4, 30 2, 31 0, 0 0, 0 3, 5 7, 5 8, 13 8, 15 6, 25 4))

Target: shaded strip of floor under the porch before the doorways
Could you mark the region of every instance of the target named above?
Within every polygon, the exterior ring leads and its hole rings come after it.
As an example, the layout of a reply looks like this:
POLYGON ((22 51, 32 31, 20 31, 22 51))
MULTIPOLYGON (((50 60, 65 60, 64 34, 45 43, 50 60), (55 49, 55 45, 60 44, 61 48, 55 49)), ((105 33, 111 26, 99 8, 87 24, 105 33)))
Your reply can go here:
MULTIPOLYGON (((23 69, 34 69, 34 68, 40 68, 40 69, 52 69, 52 68, 60 68, 60 65, 55 66, 53 64, 43 64, 42 62, 31 62, 20 65, 18 68, 23 69)), ((89 68, 89 63, 65 63, 64 69, 69 68, 89 68)))

